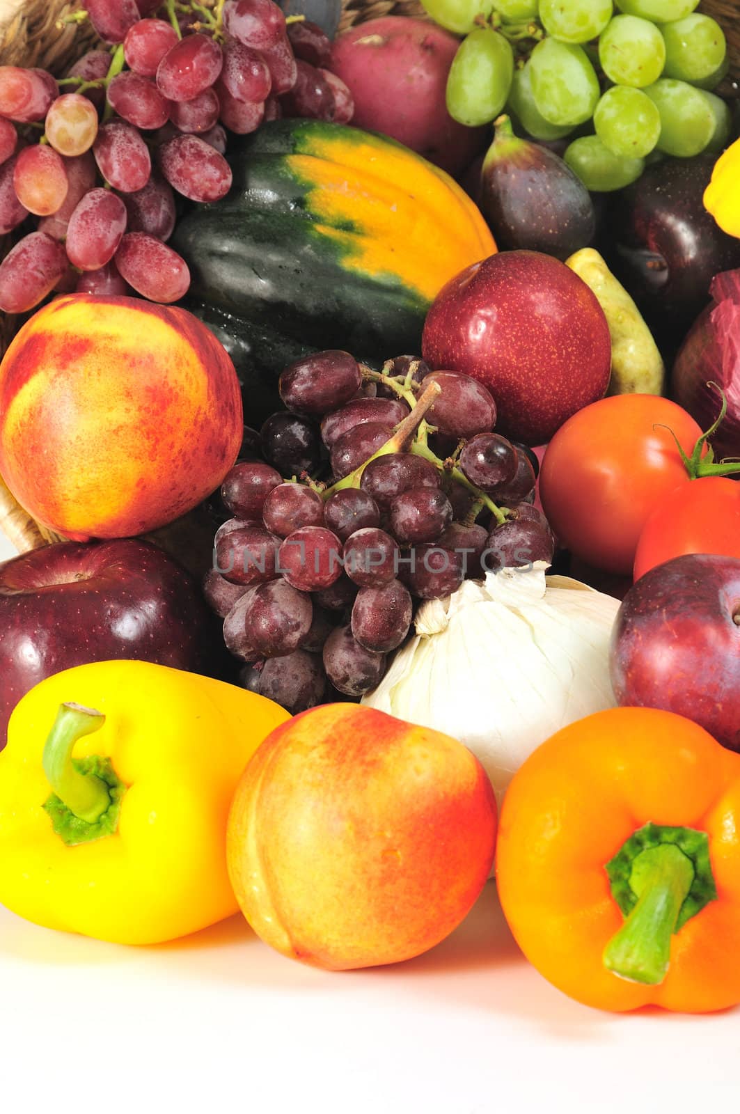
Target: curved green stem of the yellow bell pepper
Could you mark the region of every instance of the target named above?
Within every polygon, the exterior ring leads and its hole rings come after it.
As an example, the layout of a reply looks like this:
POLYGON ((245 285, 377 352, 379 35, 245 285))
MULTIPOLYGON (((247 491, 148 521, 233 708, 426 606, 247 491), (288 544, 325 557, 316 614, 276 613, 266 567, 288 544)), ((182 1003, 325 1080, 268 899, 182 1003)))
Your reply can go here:
POLYGON ((72 765, 78 739, 91 735, 105 723, 105 715, 79 704, 62 704, 43 747, 43 772, 57 797, 80 820, 93 824, 110 807, 105 782, 95 774, 79 773, 72 765))

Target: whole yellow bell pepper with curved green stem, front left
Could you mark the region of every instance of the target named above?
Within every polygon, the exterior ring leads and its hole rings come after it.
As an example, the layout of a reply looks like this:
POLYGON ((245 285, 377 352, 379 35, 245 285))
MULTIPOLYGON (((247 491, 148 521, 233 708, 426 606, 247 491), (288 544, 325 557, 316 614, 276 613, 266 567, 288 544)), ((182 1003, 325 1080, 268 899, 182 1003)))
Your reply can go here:
POLYGON ((289 719, 255 693, 148 662, 42 681, 0 753, 0 903, 139 945, 235 913, 228 809, 254 751, 289 719))

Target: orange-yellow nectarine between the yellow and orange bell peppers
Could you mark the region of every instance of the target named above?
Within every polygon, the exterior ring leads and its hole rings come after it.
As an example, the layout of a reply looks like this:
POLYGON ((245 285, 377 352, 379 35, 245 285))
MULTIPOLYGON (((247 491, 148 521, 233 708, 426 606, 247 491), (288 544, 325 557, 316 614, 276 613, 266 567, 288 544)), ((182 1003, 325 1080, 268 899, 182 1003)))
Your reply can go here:
POLYGON ((410 959, 488 877, 496 803, 457 740, 357 704, 272 732, 232 805, 227 861, 254 931, 330 970, 410 959))

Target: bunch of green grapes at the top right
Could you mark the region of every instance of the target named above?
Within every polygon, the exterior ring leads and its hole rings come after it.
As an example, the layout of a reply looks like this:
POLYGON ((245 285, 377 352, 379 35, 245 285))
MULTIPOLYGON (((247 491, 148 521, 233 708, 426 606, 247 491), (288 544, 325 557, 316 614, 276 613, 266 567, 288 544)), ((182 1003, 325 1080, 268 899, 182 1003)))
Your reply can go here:
POLYGON ((533 139, 571 137, 565 160, 592 190, 621 189, 655 154, 721 152, 731 129, 713 90, 724 32, 699 0, 422 0, 461 36, 447 108, 478 127, 506 111, 533 139))

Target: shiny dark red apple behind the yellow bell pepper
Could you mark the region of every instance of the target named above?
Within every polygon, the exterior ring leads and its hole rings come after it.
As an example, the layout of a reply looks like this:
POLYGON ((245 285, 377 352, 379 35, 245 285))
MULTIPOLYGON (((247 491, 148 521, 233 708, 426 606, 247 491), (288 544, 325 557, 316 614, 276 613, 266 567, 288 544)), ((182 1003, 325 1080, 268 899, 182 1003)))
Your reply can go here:
POLYGON ((220 629, 196 583, 145 541, 64 541, 0 565, 0 750, 13 707, 52 673, 140 658, 220 674, 220 629))

